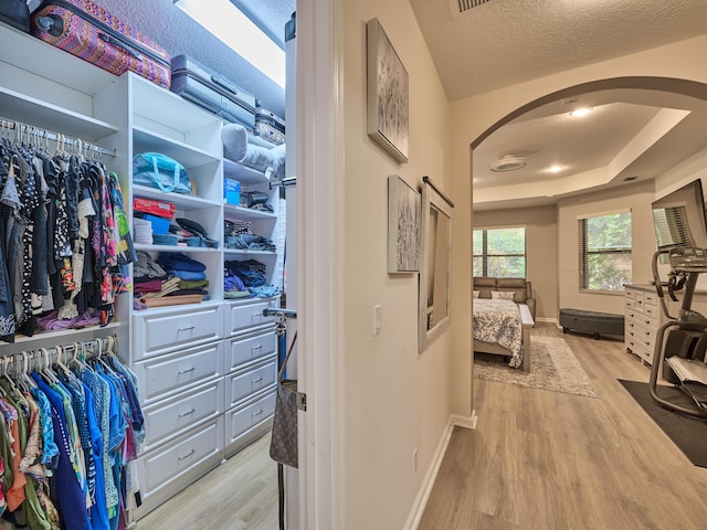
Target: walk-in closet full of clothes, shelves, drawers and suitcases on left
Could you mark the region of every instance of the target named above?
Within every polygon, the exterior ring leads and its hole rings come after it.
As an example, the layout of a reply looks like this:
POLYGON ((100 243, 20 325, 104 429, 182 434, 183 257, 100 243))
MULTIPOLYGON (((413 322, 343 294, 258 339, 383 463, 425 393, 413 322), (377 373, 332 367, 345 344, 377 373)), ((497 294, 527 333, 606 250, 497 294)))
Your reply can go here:
MULTIPOLYGON (((179 1, 27 3, 30 31, 0 22, 0 528, 156 530, 210 476, 239 499, 222 512, 275 528, 270 433, 297 316, 293 94, 179 1), (171 80, 62 50, 76 9, 108 44, 113 19, 159 44, 171 80), (270 125, 177 89, 175 57, 251 94, 270 125)), ((294 0, 262 3, 294 61, 294 0)), ((151 57, 131 38, 125 61, 151 57)))

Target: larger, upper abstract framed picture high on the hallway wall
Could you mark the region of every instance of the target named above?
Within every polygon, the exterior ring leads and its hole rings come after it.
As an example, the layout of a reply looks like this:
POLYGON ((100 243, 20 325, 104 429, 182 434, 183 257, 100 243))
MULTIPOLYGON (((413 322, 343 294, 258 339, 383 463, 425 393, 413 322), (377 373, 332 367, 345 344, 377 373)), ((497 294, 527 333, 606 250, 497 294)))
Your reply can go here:
POLYGON ((408 72, 378 22, 367 23, 368 136, 399 162, 408 161, 408 72))

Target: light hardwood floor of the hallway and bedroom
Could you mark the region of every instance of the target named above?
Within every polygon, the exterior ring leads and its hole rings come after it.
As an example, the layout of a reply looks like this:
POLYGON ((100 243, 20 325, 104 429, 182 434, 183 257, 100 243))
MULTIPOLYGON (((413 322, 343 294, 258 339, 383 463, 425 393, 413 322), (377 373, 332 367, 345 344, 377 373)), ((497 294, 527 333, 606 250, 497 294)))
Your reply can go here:
POLYGON ((618 381, 648 367, 618 340, 534 333, 564 337, 601 398, 475 379, 477 428, 455 428, 419 530, 707 528, 707 469, 618 381))

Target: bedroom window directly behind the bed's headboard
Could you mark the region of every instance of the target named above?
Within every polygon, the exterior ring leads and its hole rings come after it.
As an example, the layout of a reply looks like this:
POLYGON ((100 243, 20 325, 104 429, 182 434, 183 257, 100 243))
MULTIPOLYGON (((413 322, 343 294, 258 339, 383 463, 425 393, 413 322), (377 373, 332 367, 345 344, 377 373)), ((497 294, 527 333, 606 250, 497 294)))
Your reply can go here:
POLYGON ((473 235, 474 276, 526 277, 526 229, 479 229, 473 235))

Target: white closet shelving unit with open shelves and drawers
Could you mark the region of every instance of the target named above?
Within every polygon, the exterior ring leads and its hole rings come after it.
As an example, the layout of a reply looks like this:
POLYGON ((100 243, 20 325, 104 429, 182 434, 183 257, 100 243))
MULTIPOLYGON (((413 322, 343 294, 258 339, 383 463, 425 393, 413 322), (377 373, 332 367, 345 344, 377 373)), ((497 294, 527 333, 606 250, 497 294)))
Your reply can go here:
POLYGON ((137 462, 137 520, 271 428, 276 340, 274 318, 263 309, 277 308, 279 298, 224 299, 223 264, 257 259, 276 283, 281 250, 225 250, 223 220, 250 221, 254 233, 273 241, 279 224, 276 214, 224 204, 223 178, 239 180, 243 191, 266 191, 272 201, 277 190, 270 190, 262 173, 225 160, 220 118, 173 93, 131 73, 116 77, 3 24, 0 42, 0 116, 110 150, 115 157, 105 161, 119 176, 130 219, 134 198, 171 202, 176 216, 199 222, 220 242, 219 248, 136 245, 152 255, 183 252, 203 263, 209 300, 136 310, 131 295, 122 295, 112 326, 65 335, 118 335, 119 354, 138 375, 147 438, 137 462), (133 155, 146 151, 180 161, 196 194, 133 186, 133 155))

